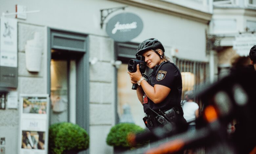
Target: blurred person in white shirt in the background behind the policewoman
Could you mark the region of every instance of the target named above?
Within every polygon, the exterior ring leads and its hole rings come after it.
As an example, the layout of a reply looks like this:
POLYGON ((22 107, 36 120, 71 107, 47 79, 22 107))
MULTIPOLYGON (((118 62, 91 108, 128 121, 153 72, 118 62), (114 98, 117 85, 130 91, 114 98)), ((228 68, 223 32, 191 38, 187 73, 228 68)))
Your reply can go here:
POLYGON ((185 92, 186 102, 182 105, 184 118, 188 123, 188 131, 196 130, 195 120, 199 116, 199 106, 194 102, 195 95, 193 91, 185 92))

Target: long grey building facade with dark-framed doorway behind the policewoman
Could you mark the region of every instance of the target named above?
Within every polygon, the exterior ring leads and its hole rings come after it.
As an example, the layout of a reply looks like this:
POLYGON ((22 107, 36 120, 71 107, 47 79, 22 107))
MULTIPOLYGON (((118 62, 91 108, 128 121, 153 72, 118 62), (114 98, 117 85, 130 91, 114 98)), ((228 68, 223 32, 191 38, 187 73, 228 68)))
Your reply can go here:
MULTIPOLYGON (((88 153, 112 153, 106 144, 111 127, 119 122, 123 106, 131 107, 135 124, 144 127, 143 107, 131 89, 127 61, 135 58, 139 43, 157 38, 165 54, 183 73, 183 89, 191 90, 205 82, 213 57, 206 51, 206 32, 212 17, 210 0, 86 0, 86 1, 0 1, 0 12, 15 12, 15 5, 26 6, 26 19, 18 21, 18 94, 49 94, 49 125, 67 121, 87 130, 88 153), (109 14, 101 28, 100 10, 125 7, 109 14), (110 38, 108 20, 122 12, 137 14, 141 33, 129 42, 110 38), (28 40, 40 40, 42 55, 38 72, 28 71, 28 40), (122 62, 116 63, 116 62, 122 62), (185 79, 186 78, 186 79, 185 79)), ((105 16, 105 15, 104 15, 105 16)), ((15 18, 15 15, 5 16, 15 18)), ((17 100, 18 101, 18 100, 17 100)), ((0 110, 0 137, 5 152, 18 153, 19 108, 0 110)))

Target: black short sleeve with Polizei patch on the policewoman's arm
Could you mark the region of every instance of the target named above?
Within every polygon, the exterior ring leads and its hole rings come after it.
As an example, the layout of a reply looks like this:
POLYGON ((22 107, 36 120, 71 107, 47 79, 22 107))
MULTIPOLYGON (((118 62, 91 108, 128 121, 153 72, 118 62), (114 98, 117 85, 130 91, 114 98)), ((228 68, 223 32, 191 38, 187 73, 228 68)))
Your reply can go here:
POLYGON ((155 85, 162 85, 172 89, 176 79, 179 76, 179 71, 172 64, 165 64, 157 72, 155 85))

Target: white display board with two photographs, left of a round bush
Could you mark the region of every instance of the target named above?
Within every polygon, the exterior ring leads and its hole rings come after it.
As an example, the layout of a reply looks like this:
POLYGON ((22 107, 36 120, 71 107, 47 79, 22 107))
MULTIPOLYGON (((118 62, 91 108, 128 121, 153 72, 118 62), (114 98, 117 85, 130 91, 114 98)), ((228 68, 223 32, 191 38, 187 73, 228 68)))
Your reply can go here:
POLYGON ((19 154, 47 154, 49 95, 20 94, 19 104, 19 154))

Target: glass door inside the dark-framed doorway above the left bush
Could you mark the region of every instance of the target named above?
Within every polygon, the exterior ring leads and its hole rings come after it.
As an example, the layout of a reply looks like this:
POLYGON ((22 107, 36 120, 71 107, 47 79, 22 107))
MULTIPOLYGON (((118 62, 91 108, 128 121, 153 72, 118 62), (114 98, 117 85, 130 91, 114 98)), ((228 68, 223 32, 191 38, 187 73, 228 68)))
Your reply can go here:
POLYGON ((75 60, 70 60, 68 56, 52 57, 50 125, 59 122, 75 123, 75 60))

